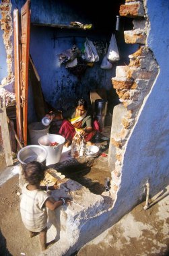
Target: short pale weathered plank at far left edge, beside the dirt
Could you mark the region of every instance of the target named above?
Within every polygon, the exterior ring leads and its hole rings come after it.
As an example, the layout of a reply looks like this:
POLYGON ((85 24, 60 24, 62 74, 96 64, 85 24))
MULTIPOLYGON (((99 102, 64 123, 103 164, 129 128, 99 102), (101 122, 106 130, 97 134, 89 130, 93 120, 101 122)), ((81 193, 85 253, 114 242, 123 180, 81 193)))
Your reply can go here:
POLYGON ((7 124, 7 112, 5 106, 5 97, 1 98, 0 104, 0 120, 1 120, 1 133, 3 139, 3 148, 5 153, 5 161, 7 166, 13 165, 12 152, 11 152, 11 143, 9 136, 9 127, 7 124))

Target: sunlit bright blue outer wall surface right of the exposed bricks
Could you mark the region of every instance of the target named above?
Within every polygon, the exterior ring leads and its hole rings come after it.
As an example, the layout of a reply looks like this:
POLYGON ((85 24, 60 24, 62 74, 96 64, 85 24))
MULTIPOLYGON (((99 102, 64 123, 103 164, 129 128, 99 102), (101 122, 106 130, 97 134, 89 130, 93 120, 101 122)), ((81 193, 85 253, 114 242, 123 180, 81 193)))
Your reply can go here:
POLYGON ((147 0, 147 14, 151 25, 147 46, 154 53, 160 73, 127 143, 114 207, 119 213, 127 212, 141 199, 147 181, 151 195, 169 181, 169 2, 147 0))

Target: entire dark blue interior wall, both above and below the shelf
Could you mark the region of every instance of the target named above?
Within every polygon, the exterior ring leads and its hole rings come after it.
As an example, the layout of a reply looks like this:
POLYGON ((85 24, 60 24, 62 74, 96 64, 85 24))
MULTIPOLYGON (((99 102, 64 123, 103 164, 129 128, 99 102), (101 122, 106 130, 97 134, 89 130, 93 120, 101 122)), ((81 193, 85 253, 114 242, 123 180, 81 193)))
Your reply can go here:
MULTIPOLYGON (((13 9, 20 8, 25 1, 12 0, 13 9)), ((86 3, 87 4, 87 3, 86 3)), ((86 5, 87 6, 87 5, 86 5)), ((87 8, 87 7, 86 7, 87 8)), ((92 22, 100 22, 100 16, 85 15, 83 8, 78 8, 69 1, 31 1, 31 22, 34 23, 53 23, 69 25, 71 21, 78 21, 83 24, 90 24, 92 22), (94 20, 95 19, 95 20, 94 20)), ((76 98, 86 98, 90 102, 90 90, 96 88, 105 88, 108 97, 112 102, 110 104, 117 104, 118 96, 112 88, 111 77, 115 76, 116 65, 127 64, 129 53, 135 52, 136 46, 127 45, 124 43, 124 38, 118 32, 116 39, 121 53, 121 61, 114 63, 111 70, 105 71, 100 69, 100 63, 94 64, 94 67, 88 68, 86 73, 77 79, 75 75, 65 69, 65 65, 59 65, 58 55, 66 49, 70 49, 73 44, 76 44, 79 49, 83 45, 86 36, 91 39, 103 40, 108 42, 111 33, 114 31, 115 23, 114 17, 110 17, 111 22, 105 21, 105 28, 101 33, 95 31, 79 31, 79 30, 62 30, 49 27, 31 26, 30 29, 30 54, 40 75, 40 82, 42 92, 45 100, 57 109, 67 109, 72 106, 76 98), (112 24, 112 30, 110 29, 112 24), (107 33, 106 27, 109 26, 110 32, 107 33), (53 36, 56 40, 54 42, 53 36), (55 44, 55 46, 54 46, 55 44), (114 103, 115 102, 115 103, 114 103)), ((93 23, 92 23, 93 24, 93 23)), ((31 104, 31 102, 29 103, 31 104)), ((33 103, 32 103, 33 104, 33 103)), ((29 112, 32 109, 30 108, 29 112)), ((112 110, 112 108, 111 108, 112 110)), ((30 117, 34 115, 30 115, 30 117)), ((28 118, 29 122, 32 121, 28 118)))

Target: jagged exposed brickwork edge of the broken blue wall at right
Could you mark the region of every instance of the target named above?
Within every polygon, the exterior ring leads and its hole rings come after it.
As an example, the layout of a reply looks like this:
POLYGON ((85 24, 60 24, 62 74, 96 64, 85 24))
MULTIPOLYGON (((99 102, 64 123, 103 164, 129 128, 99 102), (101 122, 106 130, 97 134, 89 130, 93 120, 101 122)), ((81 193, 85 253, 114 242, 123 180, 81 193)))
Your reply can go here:
POLYGON ((127 44, 138 44, 139 49, 129 55, 129 65, 117 66, 116 77, 112 77, 112 85, 119 95, 127 114, 121 119, 122 129, 111 134, 110 143, 116 148, 115 169, 112 171, 111 191, 116 193, 121 177, 121 165, 126 142, 137 119, 145 96, 158 74, 158 63, 153 53, 146 46, 146 29, 148 20, 144 11, 144 1, 126 0, 120 7, 120 15, 134 18, 133 30, 125 31, 127 44))

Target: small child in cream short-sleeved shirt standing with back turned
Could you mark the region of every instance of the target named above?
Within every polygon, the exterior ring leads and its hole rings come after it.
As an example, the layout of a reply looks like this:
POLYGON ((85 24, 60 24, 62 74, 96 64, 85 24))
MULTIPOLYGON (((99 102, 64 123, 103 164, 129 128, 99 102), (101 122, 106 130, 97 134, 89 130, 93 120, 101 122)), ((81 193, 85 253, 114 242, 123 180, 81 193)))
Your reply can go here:
MULTIPOLYGON (((40 187, 40 181, 44 179, 45 166, 40 162, 28 162, 23 167, 24 178, 27 183, 22 190, 22 198, 20 202, 20 212, 24 226, 29 230, 30 237, 40 234, 40 245, 42 251, 47 248, 46 245, 46 224, 47 224, 47 211, 55 210, 57 207, 67 203, 71 200, 69 198, 60 197, 55 201, 46 192, 42 191, 44 187, 40 187)), ((48 187, 48 189, 55 189, 55 187, 48 187)))

